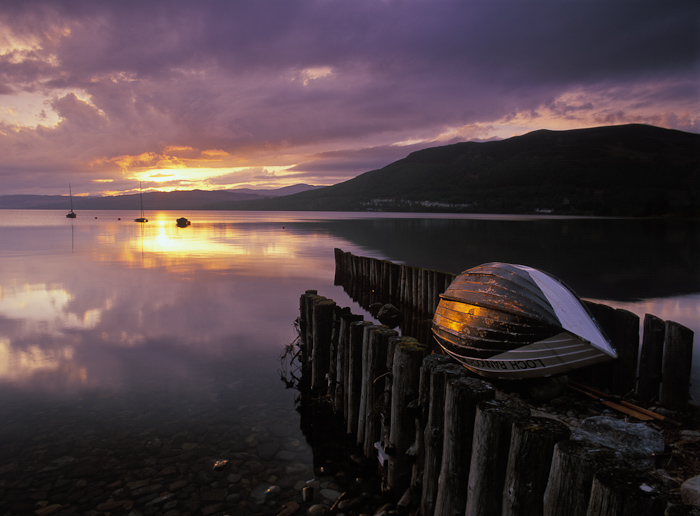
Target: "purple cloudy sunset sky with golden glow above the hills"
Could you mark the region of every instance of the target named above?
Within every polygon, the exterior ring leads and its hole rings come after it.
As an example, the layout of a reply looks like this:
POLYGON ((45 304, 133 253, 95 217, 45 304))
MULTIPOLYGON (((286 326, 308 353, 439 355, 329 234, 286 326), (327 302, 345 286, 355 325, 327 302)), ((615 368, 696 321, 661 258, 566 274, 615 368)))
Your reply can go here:
POLYGON ((700 132, 697 0, 0 2, 0 195, 331 185, 536 129, 700 132))

